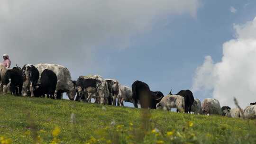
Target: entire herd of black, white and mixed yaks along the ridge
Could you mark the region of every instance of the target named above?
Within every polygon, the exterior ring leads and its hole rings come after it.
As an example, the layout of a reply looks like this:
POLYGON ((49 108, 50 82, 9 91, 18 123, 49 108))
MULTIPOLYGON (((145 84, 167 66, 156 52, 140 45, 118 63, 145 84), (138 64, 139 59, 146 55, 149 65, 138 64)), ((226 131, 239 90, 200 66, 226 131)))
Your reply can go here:
POLYGON ((62 99, 66 92, 70 100, 124 106, 131 102, 135 108, 171 110, 195 114, 215 114, 227 117, 256 118, 256 105, 251 103, 246 109, 220 108, 217 99, 194 99, 190 90, 181 90, 177 94, 171 92, 164 96, 161 91, 151 91, 142 81, 135 81, 131 88, 123 86, 114 79, 103 79, 100 75, 80 76, 72 81, 67 68, 58 64, 39 63, 26 64, 22 68, 6 68, 0 64, 0 92, 10 92, 16 96, 47 97, 62 99))

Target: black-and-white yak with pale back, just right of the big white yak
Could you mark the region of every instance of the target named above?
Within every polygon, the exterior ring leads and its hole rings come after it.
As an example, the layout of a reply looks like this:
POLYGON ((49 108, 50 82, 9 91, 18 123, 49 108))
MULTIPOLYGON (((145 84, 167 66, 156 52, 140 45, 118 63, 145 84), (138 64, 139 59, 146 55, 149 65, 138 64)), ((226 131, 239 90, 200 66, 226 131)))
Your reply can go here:
POLYGON ((76 86, 79 91, 79 99, 82 99, 82 95, 84 95, 84 99, 87 99, 87 101, 94 98, 95 103, 109 104, 108 83, 100 75, 80 76, 77 79, 76 86))

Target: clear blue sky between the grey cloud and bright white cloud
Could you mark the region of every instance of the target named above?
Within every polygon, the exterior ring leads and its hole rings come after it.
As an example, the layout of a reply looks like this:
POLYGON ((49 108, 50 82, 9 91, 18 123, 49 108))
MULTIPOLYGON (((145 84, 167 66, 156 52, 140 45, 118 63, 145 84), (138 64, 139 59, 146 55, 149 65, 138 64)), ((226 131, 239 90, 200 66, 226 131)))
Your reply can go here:
MULTIPOLYGON (((253 0, 203 0, 195 18, 168 16, 152 31, 134 36, 124 50, 100 49, 95 54, 103 70, 100 74, 128 86, 135 80, 145 81, 152 90, 164 94, 171 89, 174 93, 191 89, 194 72, 204 56, 211 55, 219 62, 223 43, 234 38, 233 24, 255 16, 253 0), (231 6, 236 13, 230 12, 231 6)), ((199 99, 212 97, 202 92, 194 95, 199 99)))

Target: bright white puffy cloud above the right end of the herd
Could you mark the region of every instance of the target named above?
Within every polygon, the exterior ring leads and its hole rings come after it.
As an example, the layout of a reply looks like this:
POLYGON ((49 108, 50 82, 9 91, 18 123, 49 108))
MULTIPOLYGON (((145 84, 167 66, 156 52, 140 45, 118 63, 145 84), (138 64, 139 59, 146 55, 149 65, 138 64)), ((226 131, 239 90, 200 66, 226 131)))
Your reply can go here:
POLYGON ((223 44, 221 62, 214 64, 207 58, 198 68, 193 90, 212 88, 213 98, 219 99, 222 106, 234 107, 233 98, 236 97, 245 108, 256 101, 256 18, 243 25, 234 25, 234 29, 236 39, 223 44))

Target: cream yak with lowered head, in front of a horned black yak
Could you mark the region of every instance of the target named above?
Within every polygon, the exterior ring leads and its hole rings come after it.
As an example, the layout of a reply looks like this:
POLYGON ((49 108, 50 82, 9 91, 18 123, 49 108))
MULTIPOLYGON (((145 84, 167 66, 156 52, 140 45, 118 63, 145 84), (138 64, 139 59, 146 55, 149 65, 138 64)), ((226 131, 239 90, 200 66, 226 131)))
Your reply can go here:
POLYGON ((183 113, 185 108, 184 97, 167 95, 156 104, 156 109, 171 110, 171 108, 177 108, 177 112, 183 113))

